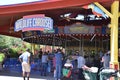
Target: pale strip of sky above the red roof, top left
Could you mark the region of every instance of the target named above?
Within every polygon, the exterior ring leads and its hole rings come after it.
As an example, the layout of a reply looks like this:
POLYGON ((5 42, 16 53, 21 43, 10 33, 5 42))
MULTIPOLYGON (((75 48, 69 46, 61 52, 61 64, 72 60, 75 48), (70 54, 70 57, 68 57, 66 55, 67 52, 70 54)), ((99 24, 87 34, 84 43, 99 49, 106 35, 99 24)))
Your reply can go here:
POLYGON ((0 0, 0 6, 20 4, 20 3, 26 3, 26 2, 35 2, 35 1, 43 1, 43 0, 0 0))

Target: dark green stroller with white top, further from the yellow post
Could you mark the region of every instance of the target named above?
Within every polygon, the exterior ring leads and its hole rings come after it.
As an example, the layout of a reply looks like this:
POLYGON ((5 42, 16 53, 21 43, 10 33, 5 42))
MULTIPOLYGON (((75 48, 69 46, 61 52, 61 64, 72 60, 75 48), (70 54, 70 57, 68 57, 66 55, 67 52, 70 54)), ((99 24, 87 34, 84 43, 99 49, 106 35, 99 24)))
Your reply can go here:
POLYGON ((83 74, 86 80, 98 80, 97 72, 98 72, 98 68, 91 67, 89 70, 84 70, 83 74))

